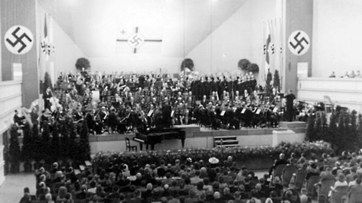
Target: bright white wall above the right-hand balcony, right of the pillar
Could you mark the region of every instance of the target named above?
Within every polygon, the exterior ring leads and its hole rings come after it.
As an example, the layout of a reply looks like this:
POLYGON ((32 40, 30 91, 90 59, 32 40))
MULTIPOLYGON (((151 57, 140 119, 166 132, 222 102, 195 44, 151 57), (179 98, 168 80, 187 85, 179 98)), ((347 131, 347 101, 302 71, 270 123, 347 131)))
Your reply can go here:
POLYGON ((362 1, 313 1, 312 77, 362 71, 362 1))

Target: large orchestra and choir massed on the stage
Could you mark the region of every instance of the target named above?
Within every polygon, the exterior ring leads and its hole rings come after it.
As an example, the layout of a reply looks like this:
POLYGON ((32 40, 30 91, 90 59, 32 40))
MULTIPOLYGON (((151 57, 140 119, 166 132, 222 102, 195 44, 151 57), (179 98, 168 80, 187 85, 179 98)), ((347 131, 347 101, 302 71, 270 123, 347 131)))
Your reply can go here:
POLYGON ((99 77, 99 73, 84 71, 66 77, 61 74, 54 88, 56 94, 49 89, 43 96, 52 115, 47 121, 63 122, 70 117, 79 130, 77 124, 80 126, 84 117, 93 134, 142 132, 192 123, 215 130, 276 128, 285 111, 277 89, 266 95, 252 73, 171 79, 155 74, 99 77), (92 95, 95 90, 99 91, 96 99, 92 95), (48 102, 55 95, 61 104, 56 108, 48 102))

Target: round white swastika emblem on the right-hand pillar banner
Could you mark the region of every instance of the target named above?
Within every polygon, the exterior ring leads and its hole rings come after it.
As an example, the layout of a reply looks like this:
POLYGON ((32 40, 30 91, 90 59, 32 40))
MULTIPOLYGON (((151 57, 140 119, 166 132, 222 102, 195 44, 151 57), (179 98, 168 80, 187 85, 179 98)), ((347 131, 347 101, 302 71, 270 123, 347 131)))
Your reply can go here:
POLYGON ((292 32, 288 38, 288 47, 291 53, 302 56, 308 52, 310 40, 308 34, 301 30, 292 32))

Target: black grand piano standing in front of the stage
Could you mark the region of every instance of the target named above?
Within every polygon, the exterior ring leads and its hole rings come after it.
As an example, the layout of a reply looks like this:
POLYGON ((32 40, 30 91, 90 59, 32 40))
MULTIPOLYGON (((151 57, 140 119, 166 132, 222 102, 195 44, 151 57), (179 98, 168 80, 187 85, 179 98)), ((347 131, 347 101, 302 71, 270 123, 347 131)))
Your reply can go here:
POLYGON ((143 144, 151 145, 151 150, 154 149, 154 145, 161 143, 162 140, 180 139, 182 147, 185 145, 186 133, 181 128, 162 128, 162 129, 148 129, 144 132, 138 132, 135 134, 133 141, 140 143, 140 149, 142 150, 143 144))

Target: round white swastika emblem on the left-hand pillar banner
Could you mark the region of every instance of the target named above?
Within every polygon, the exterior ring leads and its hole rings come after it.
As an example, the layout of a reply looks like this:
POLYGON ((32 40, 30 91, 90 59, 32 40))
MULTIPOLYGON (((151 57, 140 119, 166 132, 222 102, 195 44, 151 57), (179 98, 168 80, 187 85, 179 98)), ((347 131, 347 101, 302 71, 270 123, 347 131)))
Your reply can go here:
POLYGON ((13 26, 5 33, 4 43, 9 52, 16 55, 26 54, 33 47, 34 36, 24 26, 13 26))

